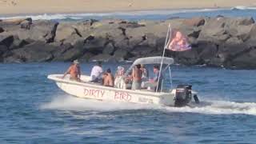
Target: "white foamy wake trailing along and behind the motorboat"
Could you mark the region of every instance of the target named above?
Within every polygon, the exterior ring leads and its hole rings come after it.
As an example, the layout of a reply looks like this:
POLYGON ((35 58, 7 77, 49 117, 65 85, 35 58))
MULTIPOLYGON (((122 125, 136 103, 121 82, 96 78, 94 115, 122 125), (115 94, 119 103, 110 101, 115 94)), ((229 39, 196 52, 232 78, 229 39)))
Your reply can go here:
POLYGON ((203 101, 198 106, 169 107, 140 105, 128 102, 100 102, 74 98, 70 95, 55 97, 43 104, 43 110, 115 111, 115 110, 162 110, 174 113, 196 114, 249 114, 256 115, 256 102, 203 101))

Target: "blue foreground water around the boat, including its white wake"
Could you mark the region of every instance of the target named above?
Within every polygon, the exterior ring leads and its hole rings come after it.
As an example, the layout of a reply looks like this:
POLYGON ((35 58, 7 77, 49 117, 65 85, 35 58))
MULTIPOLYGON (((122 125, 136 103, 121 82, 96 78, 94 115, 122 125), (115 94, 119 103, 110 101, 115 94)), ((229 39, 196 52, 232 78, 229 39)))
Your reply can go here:
POLYGON ((172 66, 174 85, 192 84, 202 102, 175 108, 74 98, 46 78, 69 65, 0 64, 0 143, 256 142, 256 70, 172 66))

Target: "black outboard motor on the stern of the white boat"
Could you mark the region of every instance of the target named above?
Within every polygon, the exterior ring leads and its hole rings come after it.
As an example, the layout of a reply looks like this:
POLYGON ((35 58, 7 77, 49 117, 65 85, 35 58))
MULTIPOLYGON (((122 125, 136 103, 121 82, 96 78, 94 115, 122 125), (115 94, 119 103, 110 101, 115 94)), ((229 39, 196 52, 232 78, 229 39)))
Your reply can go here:
POLYGON ((186 106, 192 97, 191 85, 178 85, 175 94, 175 106, 181 107, 186 106))

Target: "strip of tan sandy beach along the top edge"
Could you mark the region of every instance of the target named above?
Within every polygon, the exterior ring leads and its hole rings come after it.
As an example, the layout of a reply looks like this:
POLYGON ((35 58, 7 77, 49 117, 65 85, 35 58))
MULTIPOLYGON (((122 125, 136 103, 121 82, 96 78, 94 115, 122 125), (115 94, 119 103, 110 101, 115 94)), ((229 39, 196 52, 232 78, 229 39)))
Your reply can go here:
POLYGON ((256 0, 0 0, 0 14, 86 13, 256 6, 256 0))

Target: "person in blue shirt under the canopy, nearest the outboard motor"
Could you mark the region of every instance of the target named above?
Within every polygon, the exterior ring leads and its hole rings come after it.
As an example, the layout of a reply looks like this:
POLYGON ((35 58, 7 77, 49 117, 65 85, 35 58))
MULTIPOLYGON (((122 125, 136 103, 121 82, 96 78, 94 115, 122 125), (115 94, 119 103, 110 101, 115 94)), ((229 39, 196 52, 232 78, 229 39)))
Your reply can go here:
POLYGON ((162 86, 162 74, 160 74, 159 66, 155 65, 153 68, 153 72, 154 72, 154 78, 150 79, 150 83, 153 84, 155 90, 158 87, 158 91, 160 91, 162 86), (160 77, 159 77, 159 74, 160 74, 160 77), (158 78, 159 78, 159 82, 158 82, 158 78))

